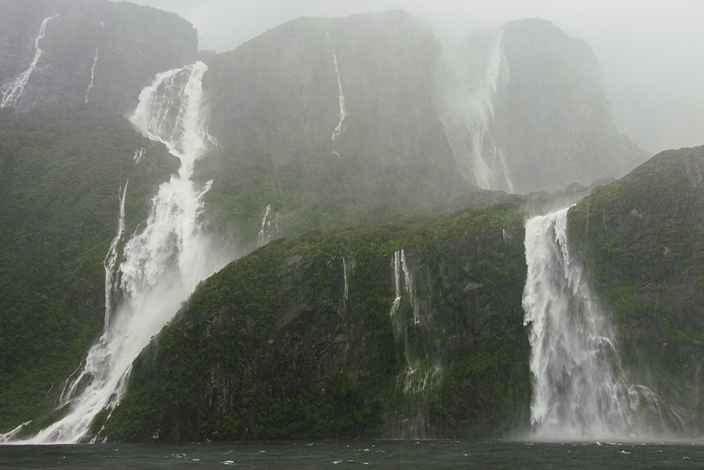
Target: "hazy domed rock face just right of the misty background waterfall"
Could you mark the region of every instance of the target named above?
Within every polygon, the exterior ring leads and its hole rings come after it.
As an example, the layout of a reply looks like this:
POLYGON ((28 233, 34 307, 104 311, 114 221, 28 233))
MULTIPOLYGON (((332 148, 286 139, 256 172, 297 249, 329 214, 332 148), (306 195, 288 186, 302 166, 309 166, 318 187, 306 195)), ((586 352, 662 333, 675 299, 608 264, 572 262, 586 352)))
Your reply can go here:
POLYGON ((505 25, 510 78, 498 85, 493 134, 516 192, 620 178, 648 154, 620 134, 596 56, 546 20, 505 25))

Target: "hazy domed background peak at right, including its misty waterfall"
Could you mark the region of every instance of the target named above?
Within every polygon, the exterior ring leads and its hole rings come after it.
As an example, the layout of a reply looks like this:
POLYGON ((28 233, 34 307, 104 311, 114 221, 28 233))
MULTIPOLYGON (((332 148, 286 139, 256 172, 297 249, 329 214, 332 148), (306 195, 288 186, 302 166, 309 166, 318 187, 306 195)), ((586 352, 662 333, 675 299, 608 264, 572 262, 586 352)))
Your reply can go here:
POLYGON ((648 157, 615 128, 589 44, 546 20, 477 30, 448 48, 435 97, 459 171, 485 189, 589 185, 648 157))

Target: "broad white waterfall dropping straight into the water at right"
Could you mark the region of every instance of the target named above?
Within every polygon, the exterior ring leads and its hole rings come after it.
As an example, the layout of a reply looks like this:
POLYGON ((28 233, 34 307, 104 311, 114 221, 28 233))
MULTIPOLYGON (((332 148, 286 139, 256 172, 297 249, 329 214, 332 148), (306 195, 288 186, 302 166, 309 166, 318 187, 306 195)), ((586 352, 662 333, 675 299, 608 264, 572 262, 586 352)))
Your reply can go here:
POLYGON ((636 418, 660 414, 660 404, 643 385, 626 385, 610 325, 584 268, 570 256, 567 210, 526 223, 523 308, 530 326, 535 437, 635 437, 643 431, 636 418))

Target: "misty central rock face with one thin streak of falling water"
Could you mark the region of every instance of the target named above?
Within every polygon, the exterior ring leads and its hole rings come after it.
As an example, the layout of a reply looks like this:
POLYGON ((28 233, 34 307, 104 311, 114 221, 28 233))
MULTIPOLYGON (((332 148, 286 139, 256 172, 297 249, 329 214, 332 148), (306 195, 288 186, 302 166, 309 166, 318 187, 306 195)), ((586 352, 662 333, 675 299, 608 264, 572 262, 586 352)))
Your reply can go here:
POLYGON ((440 52, 430 27, 402 11, 293 20, 213 58, 203 84, 212 130, 277 164, 317 153, 452 170, 430 99, 440 52))

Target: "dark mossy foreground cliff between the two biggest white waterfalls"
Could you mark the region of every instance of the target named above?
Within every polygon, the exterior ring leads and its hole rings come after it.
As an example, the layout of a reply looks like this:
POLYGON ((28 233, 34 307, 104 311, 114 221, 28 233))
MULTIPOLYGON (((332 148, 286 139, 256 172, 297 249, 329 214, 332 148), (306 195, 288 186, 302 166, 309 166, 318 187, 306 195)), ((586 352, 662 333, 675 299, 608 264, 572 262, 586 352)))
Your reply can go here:
POLYGON ((196 290, 134 364, 104 434, 486 437, 524 425, 522 245, 515 202, 272 242, 196 290))

